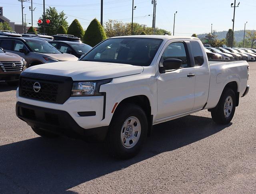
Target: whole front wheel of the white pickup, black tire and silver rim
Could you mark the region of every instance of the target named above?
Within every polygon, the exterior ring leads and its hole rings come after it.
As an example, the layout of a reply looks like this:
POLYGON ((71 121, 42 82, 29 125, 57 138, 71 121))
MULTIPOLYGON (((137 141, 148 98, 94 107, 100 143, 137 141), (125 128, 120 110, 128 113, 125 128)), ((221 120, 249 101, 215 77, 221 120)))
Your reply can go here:
POLYGON ((119 107, 110 123, 106 144, 111 156, 127 159, 138 154, 148 129, 144 110, 135 104, 119 107))

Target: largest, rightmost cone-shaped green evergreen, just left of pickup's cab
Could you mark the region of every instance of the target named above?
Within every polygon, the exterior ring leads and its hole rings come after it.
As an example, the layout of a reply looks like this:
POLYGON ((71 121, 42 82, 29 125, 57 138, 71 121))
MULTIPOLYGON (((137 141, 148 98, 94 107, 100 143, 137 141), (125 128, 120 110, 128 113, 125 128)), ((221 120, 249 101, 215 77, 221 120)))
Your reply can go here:
POLYGON ((84 43, 90 46, 95 46, 106 38, 105 31, 100 22, 96 18, 93 19, 84 34, 84 43))

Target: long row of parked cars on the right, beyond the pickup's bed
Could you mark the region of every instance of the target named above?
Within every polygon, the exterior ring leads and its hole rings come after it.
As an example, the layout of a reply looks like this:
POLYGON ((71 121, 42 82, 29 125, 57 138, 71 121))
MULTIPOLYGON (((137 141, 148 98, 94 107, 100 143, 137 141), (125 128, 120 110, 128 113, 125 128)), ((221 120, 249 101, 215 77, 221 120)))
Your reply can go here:
POLYGON ((209 59, 256 60, 256 49, 253 48, 205 47, 205 50, 209 59))

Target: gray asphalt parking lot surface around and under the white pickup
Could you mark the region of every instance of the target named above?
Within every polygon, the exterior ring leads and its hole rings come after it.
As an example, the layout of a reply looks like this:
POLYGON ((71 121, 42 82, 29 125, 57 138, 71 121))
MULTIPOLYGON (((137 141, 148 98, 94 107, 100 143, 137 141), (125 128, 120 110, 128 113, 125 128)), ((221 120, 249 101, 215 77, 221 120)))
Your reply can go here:
POLYGON ((0 193, 256 193, 256 62, 232 122, 207 110, 159 124, 140 154, 37 136, 15 115, 16 87, 0 83, 0 193))

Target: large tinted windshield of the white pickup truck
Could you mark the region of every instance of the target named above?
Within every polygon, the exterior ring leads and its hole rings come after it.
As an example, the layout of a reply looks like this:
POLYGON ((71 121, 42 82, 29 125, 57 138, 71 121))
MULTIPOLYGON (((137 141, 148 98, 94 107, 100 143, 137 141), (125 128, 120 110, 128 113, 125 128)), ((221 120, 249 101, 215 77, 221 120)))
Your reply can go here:
POLYGON ((110 38, 81 60, 149 66, 162 41, 154 38, 110 38))

